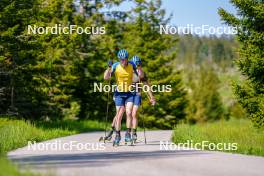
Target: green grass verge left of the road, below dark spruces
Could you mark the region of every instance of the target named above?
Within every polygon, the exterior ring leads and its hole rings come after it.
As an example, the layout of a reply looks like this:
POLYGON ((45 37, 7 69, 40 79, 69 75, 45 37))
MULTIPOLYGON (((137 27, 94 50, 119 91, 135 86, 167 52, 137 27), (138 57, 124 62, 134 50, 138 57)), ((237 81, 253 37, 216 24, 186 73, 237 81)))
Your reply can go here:
MULTIPOLYGON (((58 122, 37 122, 11 120, 0 117, 0 176, 36 175, 30 172, 19 172, 16 165, 6 158, 10 150, 24 147, 28 141, 45 141, 57 137, 68 136, 88 131, 104 129, 105 124, 97 121, 66 120, 58 122)), ((108 125, 110 126, 110 125, 108 125)))

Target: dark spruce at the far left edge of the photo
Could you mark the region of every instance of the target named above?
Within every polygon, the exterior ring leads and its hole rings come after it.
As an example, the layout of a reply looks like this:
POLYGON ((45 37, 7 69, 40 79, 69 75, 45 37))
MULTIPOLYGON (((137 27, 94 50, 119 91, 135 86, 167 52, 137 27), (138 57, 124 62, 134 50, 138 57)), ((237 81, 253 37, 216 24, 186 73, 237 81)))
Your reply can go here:
POLYGON ((3 85, 4 99, 1 113, 22 115, 34 118, 40 108, 38 100, 45 100, 45 95, 36 88, 33 79, 36 70, 35 57, 39 51, 39 42, 27 36, 27 25, 35 21, 36 0, 14 0, 0 2, 0 66, 1 79, 6 75, 3 85))

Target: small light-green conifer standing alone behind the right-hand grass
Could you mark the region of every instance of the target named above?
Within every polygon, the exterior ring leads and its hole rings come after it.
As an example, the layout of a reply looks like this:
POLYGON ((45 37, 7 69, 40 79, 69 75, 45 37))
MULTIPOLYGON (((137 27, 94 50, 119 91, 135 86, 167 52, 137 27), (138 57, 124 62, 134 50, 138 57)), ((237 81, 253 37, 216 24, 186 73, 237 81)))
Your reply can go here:
POLYGON ((211 63, 204 62, 189 73, 189 106, 186 110, 189 123, 215 121, 224 117, 219 89, 219 78, 211 63))

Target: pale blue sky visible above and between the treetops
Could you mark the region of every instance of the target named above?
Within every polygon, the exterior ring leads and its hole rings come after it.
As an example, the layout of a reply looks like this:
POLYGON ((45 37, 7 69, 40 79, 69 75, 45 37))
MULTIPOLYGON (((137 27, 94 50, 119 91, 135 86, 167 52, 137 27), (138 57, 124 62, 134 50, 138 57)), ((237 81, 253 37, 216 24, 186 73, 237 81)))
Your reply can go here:
MULTIPOLYGON (((127 11, 132 6, 130 2, 125 2, 118 10, 127 11)), ((217 14, 219 7, 233 14, 236 12, 229 0, 162 0, 162 8, 166 10, 167 16, 173 14, 170 21, 173 26, 225 26, 217 14)))

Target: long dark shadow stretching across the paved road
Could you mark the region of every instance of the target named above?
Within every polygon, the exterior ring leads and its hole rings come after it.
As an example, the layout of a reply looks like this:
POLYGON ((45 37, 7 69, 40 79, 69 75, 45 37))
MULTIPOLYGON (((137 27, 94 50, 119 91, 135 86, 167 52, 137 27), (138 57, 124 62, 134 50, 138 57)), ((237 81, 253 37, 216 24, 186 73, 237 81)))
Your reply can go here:
POLYGON ((177 151, 131 151, 131 152, 98 152, 98 153, 78 153, 78 154, 50 154, 41 156, 23 156, 20 158, 10 157, 13 162, 20 166, 34 166, 34 168, 45 167, 105 167, 120 162, 131 160, 148 160, 170 158, 175 156, 194 156, 209 154, 205 151, 197 150, 177 150, 177 151))

